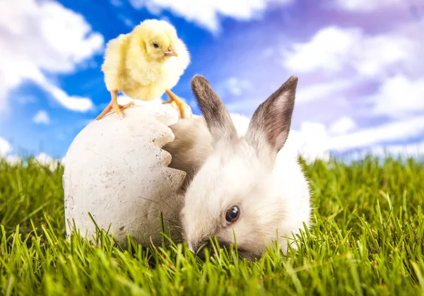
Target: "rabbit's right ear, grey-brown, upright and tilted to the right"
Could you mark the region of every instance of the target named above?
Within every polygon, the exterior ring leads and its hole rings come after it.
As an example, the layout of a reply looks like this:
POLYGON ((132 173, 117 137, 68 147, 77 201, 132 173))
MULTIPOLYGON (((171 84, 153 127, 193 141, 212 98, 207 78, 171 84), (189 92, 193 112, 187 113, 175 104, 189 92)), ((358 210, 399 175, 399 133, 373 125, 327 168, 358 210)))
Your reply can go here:
POLYGON ((254 112, 246 138, 258 151, 263 151, 264 143, 268 143, 273 155, 283 148, 290 131, 297 85, 298 78, 291 76, 254 112))

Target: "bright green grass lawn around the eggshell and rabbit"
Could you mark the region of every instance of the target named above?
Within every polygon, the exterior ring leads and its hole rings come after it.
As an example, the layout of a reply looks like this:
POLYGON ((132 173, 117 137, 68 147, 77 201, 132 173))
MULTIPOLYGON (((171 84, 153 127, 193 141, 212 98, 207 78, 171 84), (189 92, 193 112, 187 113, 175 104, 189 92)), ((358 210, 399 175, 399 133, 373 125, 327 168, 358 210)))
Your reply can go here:
POLYGON ((0 162, 0 295, 424 295, 424 163, 305 165, 314 225, 257 262, 64 230, 62 167, 0 162))

